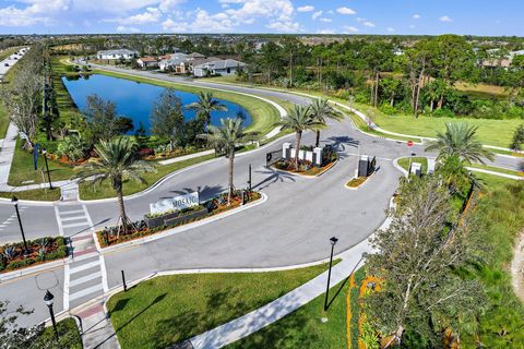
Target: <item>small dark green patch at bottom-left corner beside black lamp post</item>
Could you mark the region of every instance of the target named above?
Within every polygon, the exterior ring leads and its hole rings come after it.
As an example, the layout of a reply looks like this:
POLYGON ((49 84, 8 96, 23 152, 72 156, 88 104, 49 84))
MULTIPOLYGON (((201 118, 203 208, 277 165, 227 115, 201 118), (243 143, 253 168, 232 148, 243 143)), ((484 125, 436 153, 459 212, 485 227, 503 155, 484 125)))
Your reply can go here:
POLYGON ((82 337, 80 336, 76 322, 72 317, 57 323, 58 338, 56 341, 52 327, 46 327, 32 344, 32 348, 48 348, 48 349, 82 349, 82 337))

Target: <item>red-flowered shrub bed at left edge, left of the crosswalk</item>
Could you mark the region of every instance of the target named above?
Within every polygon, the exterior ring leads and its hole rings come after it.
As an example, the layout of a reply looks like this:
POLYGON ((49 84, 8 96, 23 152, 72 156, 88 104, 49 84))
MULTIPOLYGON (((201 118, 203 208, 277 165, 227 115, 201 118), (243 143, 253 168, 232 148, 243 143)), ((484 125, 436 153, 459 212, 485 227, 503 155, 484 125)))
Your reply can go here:
POLYGON ((29 250, 24 255, 24 243, 8 243, 0 246, 0 273, 24 268, 68 256, 68 248, 62 237, 46 237, 27 241, 29 250))

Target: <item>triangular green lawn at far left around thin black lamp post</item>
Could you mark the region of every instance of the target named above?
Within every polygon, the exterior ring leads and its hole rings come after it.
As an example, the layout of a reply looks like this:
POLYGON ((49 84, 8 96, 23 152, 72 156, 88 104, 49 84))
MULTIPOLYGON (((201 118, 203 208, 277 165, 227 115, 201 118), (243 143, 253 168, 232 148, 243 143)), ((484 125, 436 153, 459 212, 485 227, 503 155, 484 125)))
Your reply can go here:
MULTIPOLYGON (((8 183, 10 185, 19 186, 24 184, 39 184, 47 182, 47 172, 44 178, 41 170, 45 171, 45 161, 41 154, 38 155, 38 170, 35 171, 33 165, 33 153, 28 153, 21 147, 22 141, 16 142, 14 151, 13 163, 9 173, 8 183)), ((72 166, 67 166, 61 163, 48 159, 49 172, 51 173, 51 181, 69 180, 74 177, 76 170, 72 166)))

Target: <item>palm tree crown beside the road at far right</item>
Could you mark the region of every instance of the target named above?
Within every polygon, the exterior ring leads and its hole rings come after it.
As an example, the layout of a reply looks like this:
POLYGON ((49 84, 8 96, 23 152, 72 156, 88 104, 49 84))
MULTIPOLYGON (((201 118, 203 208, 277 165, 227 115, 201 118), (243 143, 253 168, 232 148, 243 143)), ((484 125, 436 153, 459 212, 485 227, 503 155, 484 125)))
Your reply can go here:
POLYGON ((445 124, 445 132, 439 132, 437 140, 430 142, 426 151, 438 151, 439 160, 458 157, 466 165, 473 161, 485 164, 485 159, 492 160, 493 153, 483 147, 476 133, 476 127, 465 122, 449 122, 445 124))

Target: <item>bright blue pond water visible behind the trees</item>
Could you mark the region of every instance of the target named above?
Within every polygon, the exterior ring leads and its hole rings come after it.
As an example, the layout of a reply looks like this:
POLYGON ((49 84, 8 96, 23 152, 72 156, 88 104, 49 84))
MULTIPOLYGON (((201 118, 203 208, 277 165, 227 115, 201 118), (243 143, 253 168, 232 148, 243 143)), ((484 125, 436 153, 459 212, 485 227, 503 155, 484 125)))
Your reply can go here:
MULTIPOLYGON (((73 79, 62 77, 62 82, 80 110, 85 109, 87 96, 97 94, 105 100, 114 101, 117 105, 119 116, 132 119, 135 129, 142 122, 147 134, 151 130, 150 115, 153 104, 165 89, 160 86, 99 74, 73 79)), ((199 96, 195 94, 181 91, 177 91, 176 94, 182 101, 182 106, 199 100, 199 96)), ((240 113, 245 118, 245 127, 251 123, 251 116, 245 108, 227 100, 218 100, 227 107, 227 111, 213 111, 211 115, 212 124, 219 125, 222 118, 236 118, 240 113)), ((195 118, 193 110, 183 108, 182 112, 186 120, 195 118)), ((129 132, 129 134, 133 133, 133 131, 129 132)))

